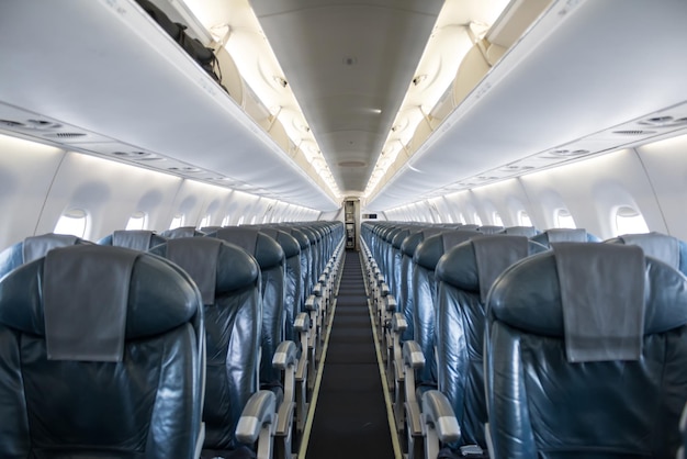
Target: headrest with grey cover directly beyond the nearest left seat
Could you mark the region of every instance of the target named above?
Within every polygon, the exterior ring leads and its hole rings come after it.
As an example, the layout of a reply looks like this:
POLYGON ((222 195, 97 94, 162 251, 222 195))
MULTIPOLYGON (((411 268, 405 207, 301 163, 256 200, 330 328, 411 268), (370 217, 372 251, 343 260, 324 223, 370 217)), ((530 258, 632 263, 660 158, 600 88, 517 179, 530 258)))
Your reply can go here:
POLYGON ((243 248, 213 237, 181 237, 150 249, 167 258, 191 276, 203 304, 215 296, 244 289, 257 282, 260 268, 243 248))

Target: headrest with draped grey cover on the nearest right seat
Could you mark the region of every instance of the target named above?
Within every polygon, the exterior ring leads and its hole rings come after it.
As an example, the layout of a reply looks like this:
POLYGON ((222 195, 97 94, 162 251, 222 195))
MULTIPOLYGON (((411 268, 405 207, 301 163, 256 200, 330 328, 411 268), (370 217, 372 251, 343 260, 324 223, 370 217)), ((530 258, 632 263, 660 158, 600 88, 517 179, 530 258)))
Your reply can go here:
POLYGON ((592 324, 577 322, 585 327, 583 338, 596 340, 593 329, 606 327, 616 335, 615 343, 592 344, 593 351, 600 349, 605 354, 590 356, 597 360, 624 357, 628 349, 635 350, 635 343, 628 347, 626 342, 635 342, 637 336, 618 335, 624 328, 637 333, 640 311, 643 335, 687 324, 687 309, 675 307, 687 304, 685 277, 662 261, 644 258, 638 247, 627 254, 617 251, 619 248, 630 246, 560 243, 551 251, 511 266, 492 288, 491 316, 527 333, 564 338, 567 328, 576 324, 566 324, 570 312, 565 309, 571 305, 572 289, 573 304, 587 303, 581 306, 579 314, 592 324), (568 247, 562 249, 563 245, 568 247), (563 260, 559 261, 559 257, 563 260), (638 305, 638 299, 643 304, 638 305))

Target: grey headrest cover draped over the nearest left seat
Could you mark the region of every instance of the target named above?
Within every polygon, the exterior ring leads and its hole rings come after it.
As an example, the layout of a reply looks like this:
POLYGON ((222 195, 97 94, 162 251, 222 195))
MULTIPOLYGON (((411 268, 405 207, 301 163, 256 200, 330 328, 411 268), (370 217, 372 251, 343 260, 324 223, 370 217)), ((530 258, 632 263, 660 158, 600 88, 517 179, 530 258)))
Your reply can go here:
POLYGON ((138 253, 76 245, 44 262, 48 360, 122 361, 128 287, 138 253))

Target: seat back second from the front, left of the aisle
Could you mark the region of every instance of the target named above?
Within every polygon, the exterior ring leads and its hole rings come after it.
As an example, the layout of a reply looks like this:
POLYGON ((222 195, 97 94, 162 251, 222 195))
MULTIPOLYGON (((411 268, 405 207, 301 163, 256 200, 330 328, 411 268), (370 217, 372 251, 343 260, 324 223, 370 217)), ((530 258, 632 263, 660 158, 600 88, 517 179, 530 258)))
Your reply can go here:
POLYGON ((258 390, 260 268, 243 248, 209 237, 170 239, 150 253, 181 267, 199 287, 207 337, 204 448, 235 449, 236 424, 258 390))

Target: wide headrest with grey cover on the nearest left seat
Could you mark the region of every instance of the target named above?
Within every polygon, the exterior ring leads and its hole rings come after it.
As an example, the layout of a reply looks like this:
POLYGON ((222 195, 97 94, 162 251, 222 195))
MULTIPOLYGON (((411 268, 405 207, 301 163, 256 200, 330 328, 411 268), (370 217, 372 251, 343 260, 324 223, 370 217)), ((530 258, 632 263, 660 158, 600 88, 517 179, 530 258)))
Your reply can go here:
POLYGON ((178 327, 199 306, 174 265, 122 247, 56 248, 0 281, 0 323, 46 337, 53 359, 121 360, 125 339, 178 327))

